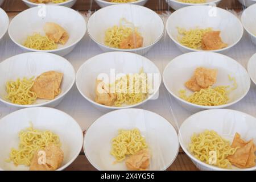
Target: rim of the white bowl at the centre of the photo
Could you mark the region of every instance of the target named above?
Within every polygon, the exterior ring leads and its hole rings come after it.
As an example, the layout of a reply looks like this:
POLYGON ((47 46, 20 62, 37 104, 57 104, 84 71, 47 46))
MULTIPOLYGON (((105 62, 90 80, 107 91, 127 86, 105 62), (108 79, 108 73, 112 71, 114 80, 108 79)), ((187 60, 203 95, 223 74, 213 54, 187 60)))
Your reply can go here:
POLYGON ((136 53, 132 53, 132 52, 122 52, 122 51, 113 51, 113 52, 104 52, 104 53, 100 53, 99 55, 96 55, 96 56, 93 56, 93 57, 90 57, 88 60, 86 60, 80 67, 79 69, 77 70, 76 72, 76 87, 77 89, 79 90, 79 93, 81 94, 82 97, 84 97, 87 101, 89 101, 91 104, 93 105, 96 105, 96 106, 99 106, 101 108, 105 108, 105 109, 129 109, 131 107, 137 107, 139 105, 142 105, 144 104, 145 102, 147 102, 148 100, 150 100, 152 97, 155 96, 156 93, 159 92, 159 88, 160 88, 160 85, 161 85, 161 82, 162 82, 162 77, 161 77, 161 73, 159 71, 159 68, 155 65, 155 63, 153 63, 151 60, 147 59, 147 57, 144 57, 142 55, 138 55, 136 53), (117 107, 117 106, 105 106, 105 105, 102 105, 102 104, 98 104, 96 101, 93 101, 91 100, 89 97, 87 97, 81 90, 80 88, 80 84, 78 84, 77 80, 78 80, 78 76, 80 75, 80 72, 82 70, 82 67, 85 67, 87 64, 90 64, 91 62, 93 62, 93 59, 98 57, 98 56, 101 56, 101 55, 108 55, 108 54, 133 54, 133 55, 136 55, 138 57, 142 57, 144 60, 147 61, 147 63, 150 63, 152 65, 154 65, 154 67, 156 68, 156 71, 158 71, 158 74, 159 74, 159 85, 158 85, 158 88, 154 89, 154 93, 150 94, 146 100, 142 101, 142 102, 139 102, 138 104, 134 104, 134 105, 129 105, 129 106, 120 106, 120 107, 117 107))

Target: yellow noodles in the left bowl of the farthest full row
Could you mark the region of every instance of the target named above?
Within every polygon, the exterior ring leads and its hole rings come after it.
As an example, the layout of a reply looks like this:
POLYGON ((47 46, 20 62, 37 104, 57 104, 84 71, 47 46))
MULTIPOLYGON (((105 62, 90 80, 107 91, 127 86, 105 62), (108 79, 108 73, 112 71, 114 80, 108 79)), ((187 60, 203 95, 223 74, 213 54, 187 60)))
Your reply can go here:
POLYGON ((42 36, 38 33, 28 36, 23 45, 25 47, 37 50, 52 50, 57 48, 57 44, 54 42, 54 40, 51 40, 47 36, 42 36))

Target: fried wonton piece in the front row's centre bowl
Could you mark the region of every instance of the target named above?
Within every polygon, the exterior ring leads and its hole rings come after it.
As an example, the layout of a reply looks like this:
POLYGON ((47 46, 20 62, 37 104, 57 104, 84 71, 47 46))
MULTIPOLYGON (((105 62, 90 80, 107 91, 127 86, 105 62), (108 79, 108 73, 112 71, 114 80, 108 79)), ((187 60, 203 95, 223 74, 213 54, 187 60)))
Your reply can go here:
POLYGON ((131 171, 144 171, 150 165, 150 154, 148 150, 139 151, 129 156, 125 161, 126 167, 131 171))

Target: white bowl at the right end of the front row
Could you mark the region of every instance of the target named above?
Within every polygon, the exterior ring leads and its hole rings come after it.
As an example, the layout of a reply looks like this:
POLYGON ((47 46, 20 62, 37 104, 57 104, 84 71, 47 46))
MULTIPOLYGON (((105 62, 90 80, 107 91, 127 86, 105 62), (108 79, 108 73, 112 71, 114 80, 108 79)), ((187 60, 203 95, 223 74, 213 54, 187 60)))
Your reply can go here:
MULTIPOLYGON (((234 135, 241 134, 245 140, 254 139, 256 143, 256 118, 249 114, 229 109, 204 110, 187 118, 179 129, 179 142, 183 151, 192 159, 192 162, 201 170, 227 170, 216 166, 211 166, 196 159, 189 151, 189 143, 194 133, 199 134, 205 130, 214 130, 221 137, 230 140, 232 143, 234 135)), ((237 168, 234 170, 256 170, 256 167, 237 168)))

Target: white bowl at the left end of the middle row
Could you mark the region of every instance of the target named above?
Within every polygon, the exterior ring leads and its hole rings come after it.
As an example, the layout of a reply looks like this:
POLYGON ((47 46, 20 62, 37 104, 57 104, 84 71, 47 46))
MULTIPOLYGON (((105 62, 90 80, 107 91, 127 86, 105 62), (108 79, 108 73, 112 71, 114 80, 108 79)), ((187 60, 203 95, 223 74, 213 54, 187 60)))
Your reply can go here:
POLYGON ((28 52, 16 55, 0 63, 0 101, 14 107, 57 106, 75 83, 75 69, 68 60, 47 52, 28 52), (53 100, 37 99, 35 104, 18 105, 5 99, 6 82, 17 78, 39 76, 43 72, 57 71, 63 73, 61 93, 53 100))

